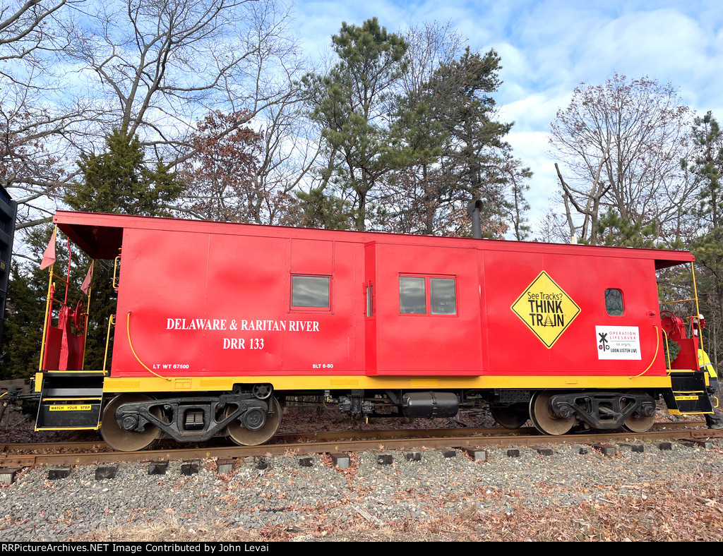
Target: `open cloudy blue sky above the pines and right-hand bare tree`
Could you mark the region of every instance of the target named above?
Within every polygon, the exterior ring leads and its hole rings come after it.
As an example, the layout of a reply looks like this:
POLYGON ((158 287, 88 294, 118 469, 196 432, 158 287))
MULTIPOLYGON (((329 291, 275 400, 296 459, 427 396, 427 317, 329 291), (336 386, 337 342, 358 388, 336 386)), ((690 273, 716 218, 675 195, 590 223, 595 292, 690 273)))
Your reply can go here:
POLYGON ((723 4, 720 1, 341 1, 296 0, 296 32, 310 56, 328 48, 342 21, 378 17, 390 31, 451 22, 476 51, 502 56, 496 96, 508 140, 534 171, 531 217, 556 186, 547 131, 581 82, 602 84, 617 71, 670 82, 700 115, 723 120, 723 4))

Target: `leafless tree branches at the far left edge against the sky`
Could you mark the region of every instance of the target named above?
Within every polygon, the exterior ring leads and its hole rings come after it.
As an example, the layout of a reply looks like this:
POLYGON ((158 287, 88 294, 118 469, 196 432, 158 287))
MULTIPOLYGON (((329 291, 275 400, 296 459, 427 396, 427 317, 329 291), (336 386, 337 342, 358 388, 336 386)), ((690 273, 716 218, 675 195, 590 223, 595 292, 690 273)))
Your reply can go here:
POLYGON ((77 173, 79 132, 93 119, 58 64, 72 40, 71 12, 82 4, 0 6, 0 184, 18 201, 18 228, 50 220, 77 173))

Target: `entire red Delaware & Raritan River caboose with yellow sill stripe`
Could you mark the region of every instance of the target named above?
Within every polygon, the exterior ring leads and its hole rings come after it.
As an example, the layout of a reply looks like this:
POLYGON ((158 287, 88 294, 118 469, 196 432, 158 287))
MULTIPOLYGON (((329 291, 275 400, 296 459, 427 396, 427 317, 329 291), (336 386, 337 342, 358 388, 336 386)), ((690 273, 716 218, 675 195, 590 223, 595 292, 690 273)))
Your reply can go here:
POLYGON ((100 427, 121 450, 163 433, 257 444, 275 433, 279 401, 298 394, 359 416, 450 417, 479 399, 502 425, 531 417, 549 434, 578 422, 646 430, 661 394, 676 411, 710 411, 685 360, 697 344, 672 365, 695 383, 685 408, 664 360, 656 269, 690 253, 72 212, 54 221, 93 259, 117 257, 118 302, 109 372, 82 369, 82 326, 48 314, 39 429, 100 427))

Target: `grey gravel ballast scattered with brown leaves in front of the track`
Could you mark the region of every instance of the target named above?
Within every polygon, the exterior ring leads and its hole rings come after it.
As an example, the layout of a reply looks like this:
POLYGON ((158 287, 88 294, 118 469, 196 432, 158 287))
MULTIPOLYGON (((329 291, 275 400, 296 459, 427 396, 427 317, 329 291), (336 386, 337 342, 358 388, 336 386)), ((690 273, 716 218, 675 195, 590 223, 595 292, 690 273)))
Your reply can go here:
POLYGON ((486 461, 462 451, 445 457, 436 449, 419 450, 421 460, 414 461, 408 452, 380 447, 351 454, 348 469, 333 466, 328 456, 312 456, 312 466, 302 466, 300 456, 288 455, 236 459, 229 474, 218 474, 214 460, 200 461, 192 475, 181 473, 180 461, 171 461, 165 475, 148 474, 147 463, 128 463, 118 464, 114 479, 96 479, 93 465, 48 479, 56 468, 38 466, 0 486, 0 537, 103 539, 104 531, 127 527, 124 540, 130 541, 140 528, 168 524, 205 540, 230 528, 275 528, 286 532, 284 539, 314 540, 322 529, 359 524, 414 530, 473 513, 478 520, 504 518, 521 508, 555 513, 592 503, 612 510, 620 500, 644 501, 662 491, 700 490, 695 496, 708 508, 723 503, 699 487, 723 469, 721 440, 708 448, 686 442, 673 442, 670 450, 659 443, 615 447, 615 456, 576 444, 489 448, 486 461), (642 452, 634 451, 638 445, 642 452), (393 456, 393 463, 380 464, 380 454, 393 456))

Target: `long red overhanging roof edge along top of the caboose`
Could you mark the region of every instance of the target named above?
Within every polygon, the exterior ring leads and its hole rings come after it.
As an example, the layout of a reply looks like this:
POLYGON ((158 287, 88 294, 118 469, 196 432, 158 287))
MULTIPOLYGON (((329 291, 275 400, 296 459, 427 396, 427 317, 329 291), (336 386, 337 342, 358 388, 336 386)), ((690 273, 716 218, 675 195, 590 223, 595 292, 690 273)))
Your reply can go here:
POLYGON ((82 250, 93 257, 93 259, 115 259, 121 248, 123 230, 135 229, 224 235, 253 235, 270 238, 334 240, 351 243, 404 243, 419 246, 479 248, 484 251, 555 253, 562 255, 585 254, 588 256, 623 259, 652 259, 655 261, 656 269, 663 269, 667 266, 675 266, 676 264, 683 264, 695 260, 693 255, 688 251, 668 251, 664 249, 583 246, 531 241, 480 240, 475 238, 352 232, 347 230, 318 230, 314 228, 289 226, 131 216, 128 214, 58 211, 53 221, 73 243, 82 248, 82 250))

